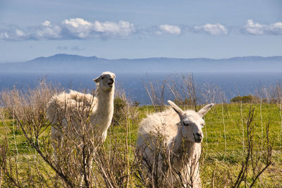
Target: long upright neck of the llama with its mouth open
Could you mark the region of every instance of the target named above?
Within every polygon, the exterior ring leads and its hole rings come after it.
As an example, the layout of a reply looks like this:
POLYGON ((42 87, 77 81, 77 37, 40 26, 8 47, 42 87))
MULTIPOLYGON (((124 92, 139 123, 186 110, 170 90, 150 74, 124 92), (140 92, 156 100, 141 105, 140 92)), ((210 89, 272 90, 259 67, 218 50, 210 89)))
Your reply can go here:
POLYGON ((97 99, 97 104, 95 104, 90 115, 90 121, 93 125, 98 126, 100 133, 105 134, 103 137, 106 137, 106 130, 111 125, 111 118, 114 113, 114 86, 108 91, 97 87, 95 98, 97 99))

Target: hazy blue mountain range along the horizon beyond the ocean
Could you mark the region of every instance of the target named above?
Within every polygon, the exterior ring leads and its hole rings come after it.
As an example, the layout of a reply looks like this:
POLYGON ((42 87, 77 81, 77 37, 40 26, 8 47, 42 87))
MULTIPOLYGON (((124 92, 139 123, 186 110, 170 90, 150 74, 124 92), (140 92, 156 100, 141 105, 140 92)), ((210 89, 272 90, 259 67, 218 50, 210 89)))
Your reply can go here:
POLYGON ((234 58, 121 58, 56 54, 21 63, 0 63, 0 73, 200 73, 282 72, 282 56, 234 58))

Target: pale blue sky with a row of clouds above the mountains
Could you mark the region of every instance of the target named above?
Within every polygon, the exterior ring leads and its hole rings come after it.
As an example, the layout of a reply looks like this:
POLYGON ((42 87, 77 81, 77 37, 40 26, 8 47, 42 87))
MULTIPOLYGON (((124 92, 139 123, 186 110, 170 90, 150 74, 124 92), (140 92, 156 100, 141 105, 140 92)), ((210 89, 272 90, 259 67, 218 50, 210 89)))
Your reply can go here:
POLYGON ((282 56, 281 0, 1 0, 0 63, 282 56))

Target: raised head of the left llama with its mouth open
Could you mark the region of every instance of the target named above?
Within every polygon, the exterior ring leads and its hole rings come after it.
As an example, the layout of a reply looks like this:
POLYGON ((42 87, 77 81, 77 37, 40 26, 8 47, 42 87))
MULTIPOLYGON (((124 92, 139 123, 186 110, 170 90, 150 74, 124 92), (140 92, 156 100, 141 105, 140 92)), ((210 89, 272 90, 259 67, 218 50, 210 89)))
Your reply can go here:
POLYGON ((93 79, 94 82, 99 84, 99 88, 101 88, 104 91, 110 91, 114 88, 114 82, 115 82, 116 75, 111 72, 104 72, 102 75, 97 77, 96 79, 93 79))

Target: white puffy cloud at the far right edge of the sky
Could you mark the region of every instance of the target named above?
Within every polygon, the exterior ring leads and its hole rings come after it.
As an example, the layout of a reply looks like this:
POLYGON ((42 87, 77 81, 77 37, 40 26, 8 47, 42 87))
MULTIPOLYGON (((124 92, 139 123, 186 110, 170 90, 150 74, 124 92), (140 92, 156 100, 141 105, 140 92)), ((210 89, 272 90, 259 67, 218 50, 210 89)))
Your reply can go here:
POLYGON ((271 25, 262 25, 254 23, 253 20, 247 20, 243 32, 251 35, 282 35, 282 23, 273 23, 271 25))

